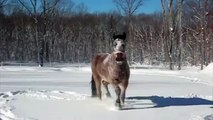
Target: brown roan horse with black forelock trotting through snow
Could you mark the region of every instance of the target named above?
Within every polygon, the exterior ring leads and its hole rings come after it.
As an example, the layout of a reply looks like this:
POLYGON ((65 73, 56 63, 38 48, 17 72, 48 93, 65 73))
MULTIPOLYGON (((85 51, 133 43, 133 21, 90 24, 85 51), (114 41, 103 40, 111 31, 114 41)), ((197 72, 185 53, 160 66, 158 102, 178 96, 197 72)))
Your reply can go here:
POLYGON ((125 54, 126 33, 113 34, 114 51, 99 53, 91 61, 92 97, 102 99, 101 85, 106 89, 106 96, 111 97, 108 85, 112 85, 116 93, 115 106, 122 108, 124 105, 126 89, 129 84, 130 69, 125 54))

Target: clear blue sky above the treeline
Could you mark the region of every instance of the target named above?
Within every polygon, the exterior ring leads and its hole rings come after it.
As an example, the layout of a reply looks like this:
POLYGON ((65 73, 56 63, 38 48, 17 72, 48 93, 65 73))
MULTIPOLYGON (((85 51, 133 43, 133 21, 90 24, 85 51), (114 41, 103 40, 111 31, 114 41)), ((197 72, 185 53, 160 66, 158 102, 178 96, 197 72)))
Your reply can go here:
MULTIPOLYGON (((83 3, 88 11, 93 12, 109 12, 116 9, 113 0, 72 0, 75 5, 83 3)), ((160 0, 144 0, 144 5, 137 13, 154 13, 161 10, 160 0)))

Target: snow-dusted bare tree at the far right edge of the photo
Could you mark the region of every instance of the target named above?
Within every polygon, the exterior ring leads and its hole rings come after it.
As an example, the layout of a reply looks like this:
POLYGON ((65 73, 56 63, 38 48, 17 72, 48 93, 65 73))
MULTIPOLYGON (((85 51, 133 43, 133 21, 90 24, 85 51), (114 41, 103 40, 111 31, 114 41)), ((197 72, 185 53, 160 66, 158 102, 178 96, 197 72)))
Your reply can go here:
POLYGON ((194 56, 198 56, 201 69, 204 68, 204 65, 208 65, 211 61, 211 30, 210 27, 212 21, 212 0, 197 0, 187 1, 185 9, 188 8, 188 12, 191 14, 189 24, 187 24, 187 30, 193 34, 193 43, 192 47, 198 49, 198 52, 194 56))

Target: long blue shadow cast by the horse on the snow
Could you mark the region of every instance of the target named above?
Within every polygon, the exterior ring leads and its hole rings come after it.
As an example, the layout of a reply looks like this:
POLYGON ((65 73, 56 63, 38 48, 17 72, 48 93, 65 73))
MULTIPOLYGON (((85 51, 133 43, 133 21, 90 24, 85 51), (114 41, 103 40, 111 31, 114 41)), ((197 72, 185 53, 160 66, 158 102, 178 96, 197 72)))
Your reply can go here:
POLYGON ((131 101, 133 107, 123 108, 123 110, 161 108, 169 106, 194 106, 194 105, 213 105, 213 101, 202 98, 178 98, 178 97, 162 97, 162 96, 133 96, 127 97, 126 100, 131 101), (138 101, 150 100, 152 103, 140 103, 138 101), (146 105, 151 105, 146 107, 146 105), (140 107, 134 107, 140 106, 140 107), (143 107, 144 106, 144 107, 143 107))

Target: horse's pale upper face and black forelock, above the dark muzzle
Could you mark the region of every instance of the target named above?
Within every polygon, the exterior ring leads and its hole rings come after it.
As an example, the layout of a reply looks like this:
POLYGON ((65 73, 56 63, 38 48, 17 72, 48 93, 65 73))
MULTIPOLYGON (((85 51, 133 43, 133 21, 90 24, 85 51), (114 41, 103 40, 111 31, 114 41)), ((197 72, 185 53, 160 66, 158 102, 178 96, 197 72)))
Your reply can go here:
POLYGON ((126 39, 126 33, 124 32, 123 34, 118 35, 113 34, 113 39, 114 39, 113 42, 114 51, 125 52, 124 40, 126 39))

